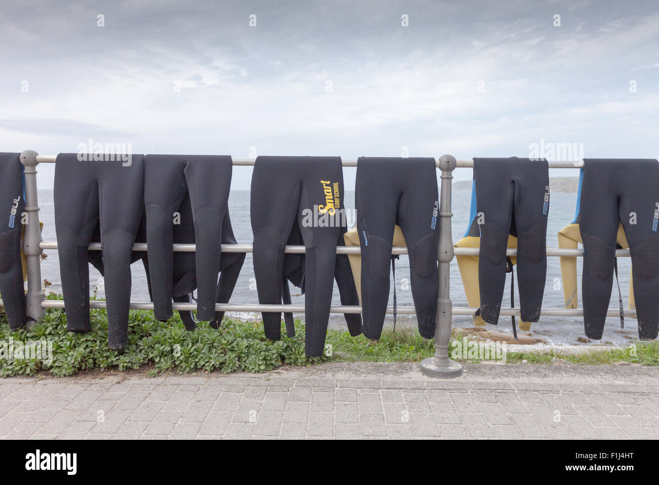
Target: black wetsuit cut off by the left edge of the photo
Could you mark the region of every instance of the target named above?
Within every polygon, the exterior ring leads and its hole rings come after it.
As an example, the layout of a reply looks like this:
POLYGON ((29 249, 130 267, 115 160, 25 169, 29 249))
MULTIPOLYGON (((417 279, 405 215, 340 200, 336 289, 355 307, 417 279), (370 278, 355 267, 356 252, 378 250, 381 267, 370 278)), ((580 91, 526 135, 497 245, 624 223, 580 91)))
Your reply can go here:
POLYGON ((21 214, 25 207, 20 153, 0 153, 0 298, 12 329, 25 325, 25 290, 20 262, 21 214))

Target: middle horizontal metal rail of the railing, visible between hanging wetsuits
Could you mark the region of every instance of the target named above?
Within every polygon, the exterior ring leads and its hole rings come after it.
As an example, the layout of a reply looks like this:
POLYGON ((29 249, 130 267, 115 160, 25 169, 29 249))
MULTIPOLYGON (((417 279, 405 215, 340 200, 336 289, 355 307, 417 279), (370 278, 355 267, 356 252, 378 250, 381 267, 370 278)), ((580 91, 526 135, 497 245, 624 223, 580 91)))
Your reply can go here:
MULTIPOLYGON (((40 244, 42 249, 57 249, 57 242, 55 241, 43 241, 40 244)), ((194 244, 175 244, 174 251, 179 251, 183 253, 194 253, 195 251, 194 244)), ((101 251, 101 243, 91 243, 88 248, 90 251, 101 251)), ((252 245, 251 244, 221 244, 221 249, 223 253, 251 253, 252 245)), ((146 243, 135 243, 132 245, 133 251, 146 251, 146 243)), ((453 253, 456 256, 478 256, 478 247, 455 247, 453 253)), ((291 245, 286 246, 286 253, 304 253, 305 248, 301 245, 291 245)), ((360 254, 361 249, 359 246, 337 246, 337 254, 360 254)), ((391 254, 407 254, 407 247, 405 246, 393 246, 391 247, 391 254)), ((506 256, 517 256, 517 249, 507 249, 505 251, 506 256)), ((556 249, 548 248, 548 256, 559 256, 559 257, 582 257, 583 249, 556 249)), ((629 257, 629 249, 616 249, 616 257, 629 257)))

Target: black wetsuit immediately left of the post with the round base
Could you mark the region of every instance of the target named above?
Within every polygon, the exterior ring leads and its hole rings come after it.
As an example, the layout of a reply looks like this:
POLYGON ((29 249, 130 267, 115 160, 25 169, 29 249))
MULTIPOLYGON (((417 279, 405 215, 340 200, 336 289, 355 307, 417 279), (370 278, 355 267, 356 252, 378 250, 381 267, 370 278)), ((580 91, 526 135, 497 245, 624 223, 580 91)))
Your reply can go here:
POLYGON ((357 231, 362 255, 363 333, 380 339, 389 300, 389 266, 395 224, 401 226, 410 261, 418 331, 435 335, 438 187, 434 158, 371 158, 357 161, 357 231))

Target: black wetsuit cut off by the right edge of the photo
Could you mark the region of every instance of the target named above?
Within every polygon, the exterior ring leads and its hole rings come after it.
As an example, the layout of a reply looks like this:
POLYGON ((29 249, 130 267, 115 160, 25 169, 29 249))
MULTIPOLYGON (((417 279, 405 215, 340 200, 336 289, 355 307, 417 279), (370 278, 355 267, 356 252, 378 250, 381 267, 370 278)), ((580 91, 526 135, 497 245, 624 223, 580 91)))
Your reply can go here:
POLYGON ((583 241, 583 320, 599 340, 613 286, 616 235, 622 223, 631 253, 639 338, 657 337, 659 325, 659 162, 584 160, 578 220, 583 241))

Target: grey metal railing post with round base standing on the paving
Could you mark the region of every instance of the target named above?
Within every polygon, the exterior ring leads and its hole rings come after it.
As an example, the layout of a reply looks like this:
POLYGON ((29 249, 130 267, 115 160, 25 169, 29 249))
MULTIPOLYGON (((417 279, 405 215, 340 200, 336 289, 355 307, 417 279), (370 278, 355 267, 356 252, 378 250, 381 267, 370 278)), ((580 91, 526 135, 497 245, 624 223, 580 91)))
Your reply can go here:
POLYGON ((453 236, 451 234, 451 180, 457 162, 451 155, 440 157, 442 187, 440 193, 440 234, 437 240, 440 294, 437 300, 437 325, 435 329, 435 356, 421 361, 421 372, 431 377, 451 379, 462 375, 462 365, 449 359, 448 346, 451 340, 450 296, 451 261, 453 261, 453 236))

